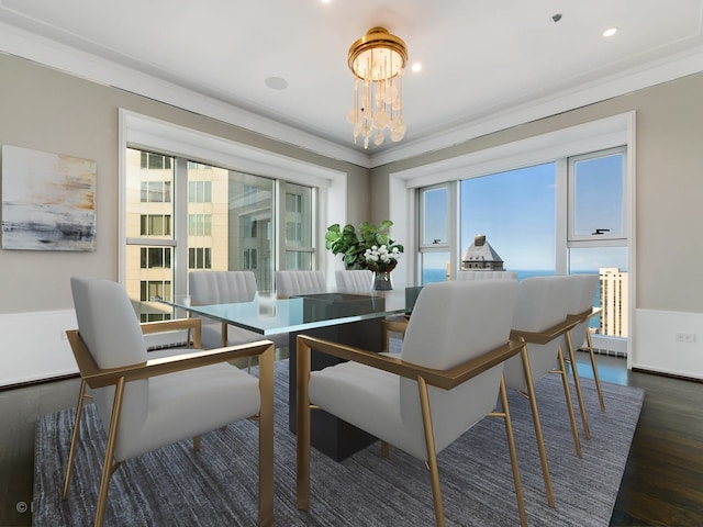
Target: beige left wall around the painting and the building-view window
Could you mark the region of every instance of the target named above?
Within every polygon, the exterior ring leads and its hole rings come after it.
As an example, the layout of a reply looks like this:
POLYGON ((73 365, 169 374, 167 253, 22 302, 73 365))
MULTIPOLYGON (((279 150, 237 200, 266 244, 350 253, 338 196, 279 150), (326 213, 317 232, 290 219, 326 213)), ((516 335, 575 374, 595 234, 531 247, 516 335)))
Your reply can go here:
POLYGON ((116 280, 120 108, 347 172, 348 220, 368 216, 365 168, 8 55, 0 55, 0 144, 98 162, 97 250, 0 250, 0 314, 71 309, 71 274, 116 280))

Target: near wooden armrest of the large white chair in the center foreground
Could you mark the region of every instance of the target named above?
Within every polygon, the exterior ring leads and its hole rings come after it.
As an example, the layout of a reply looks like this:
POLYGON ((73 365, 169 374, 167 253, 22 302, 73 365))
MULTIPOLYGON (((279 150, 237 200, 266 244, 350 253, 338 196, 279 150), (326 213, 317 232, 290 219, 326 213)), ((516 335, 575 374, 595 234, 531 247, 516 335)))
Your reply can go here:
MULTIPOLYGON (((437 370, 408 362, 395 357, 389 357, 387 355, 379 355, 373 351, 355 348, 353 346, 345 346, 331 340, 310 337, 308 335, 299 335, 298 360, 300 361, 301 358, 302 360, 309 360, 309 351, 310 349, 314 349, 315 351, 332 355, 339 359, 353 360, 406 379, 416 380, 422 377, 427 384, 438 386, 444 390, 450 390, 517 355, 524 346, 524 343, 507 341, 503 346, 479 357, 475 357, 471 360, 467 360, 454 368, 437 370), (308 350, 308 354, 304 352, 305 350, 308 350)), ((308 370, 310 368, 308 367, 308 370)))

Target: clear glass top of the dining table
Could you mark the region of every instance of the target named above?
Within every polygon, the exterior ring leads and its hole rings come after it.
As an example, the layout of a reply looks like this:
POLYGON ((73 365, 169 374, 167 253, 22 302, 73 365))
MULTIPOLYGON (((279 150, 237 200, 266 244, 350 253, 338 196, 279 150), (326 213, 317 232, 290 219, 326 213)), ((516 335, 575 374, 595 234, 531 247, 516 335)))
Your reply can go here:
POLYGON ((177 295, 172 302, 161 302, 261 335, 277 335, 402 314, 412 309, 419 289, 368 293, 331 290, 290 299, 257 293, 252 302, 209 305, 194 305, 190 298, 177 295))

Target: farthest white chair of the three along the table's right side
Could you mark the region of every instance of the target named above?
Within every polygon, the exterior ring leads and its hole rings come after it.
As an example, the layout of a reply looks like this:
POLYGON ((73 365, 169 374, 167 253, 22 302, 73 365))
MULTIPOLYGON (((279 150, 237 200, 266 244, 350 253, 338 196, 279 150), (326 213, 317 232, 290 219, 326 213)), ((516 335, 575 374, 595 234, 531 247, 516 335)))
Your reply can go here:
POLYGON ((571 358, 572 371, 578 377, 576 357, 573 351, 585 347, 591 359, 591 368, 593 369, 593 381, 598 392, 601 410, 605 411, 605 401, 603 400, 603 391, 601 390, 601 380, 598 374, 598 365, 595 363, 595 355, 593 352, 593 343, 591 340, 591 332, 589 332, 589 321, 601 312, 600 309, 593 307, 593 299, 598 290, 598 274, 571 274, 572 294, 571 303, 568 310, 568 317, 577 321, 577 325, 566 334, 569 356, 571 358))

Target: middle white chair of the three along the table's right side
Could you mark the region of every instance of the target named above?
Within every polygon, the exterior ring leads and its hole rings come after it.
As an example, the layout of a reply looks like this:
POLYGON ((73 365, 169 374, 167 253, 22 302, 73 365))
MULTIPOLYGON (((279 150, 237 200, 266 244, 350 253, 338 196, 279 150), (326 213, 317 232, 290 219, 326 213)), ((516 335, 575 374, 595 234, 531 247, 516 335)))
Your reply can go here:
POLYGON ((574 448, 580 457, 581 441, 561 349, 565 333, 573 326, 566 316, 569 302, 568 278, 533 277, 518 282, 511 337, 526 343, 526 347, 522 350, 521 357, 505 362, 504 370, 505 385, 529 400, 547 502, 551 507, 555 506, 554 492, 534 384, 547 373, 561 375, 574 448))

